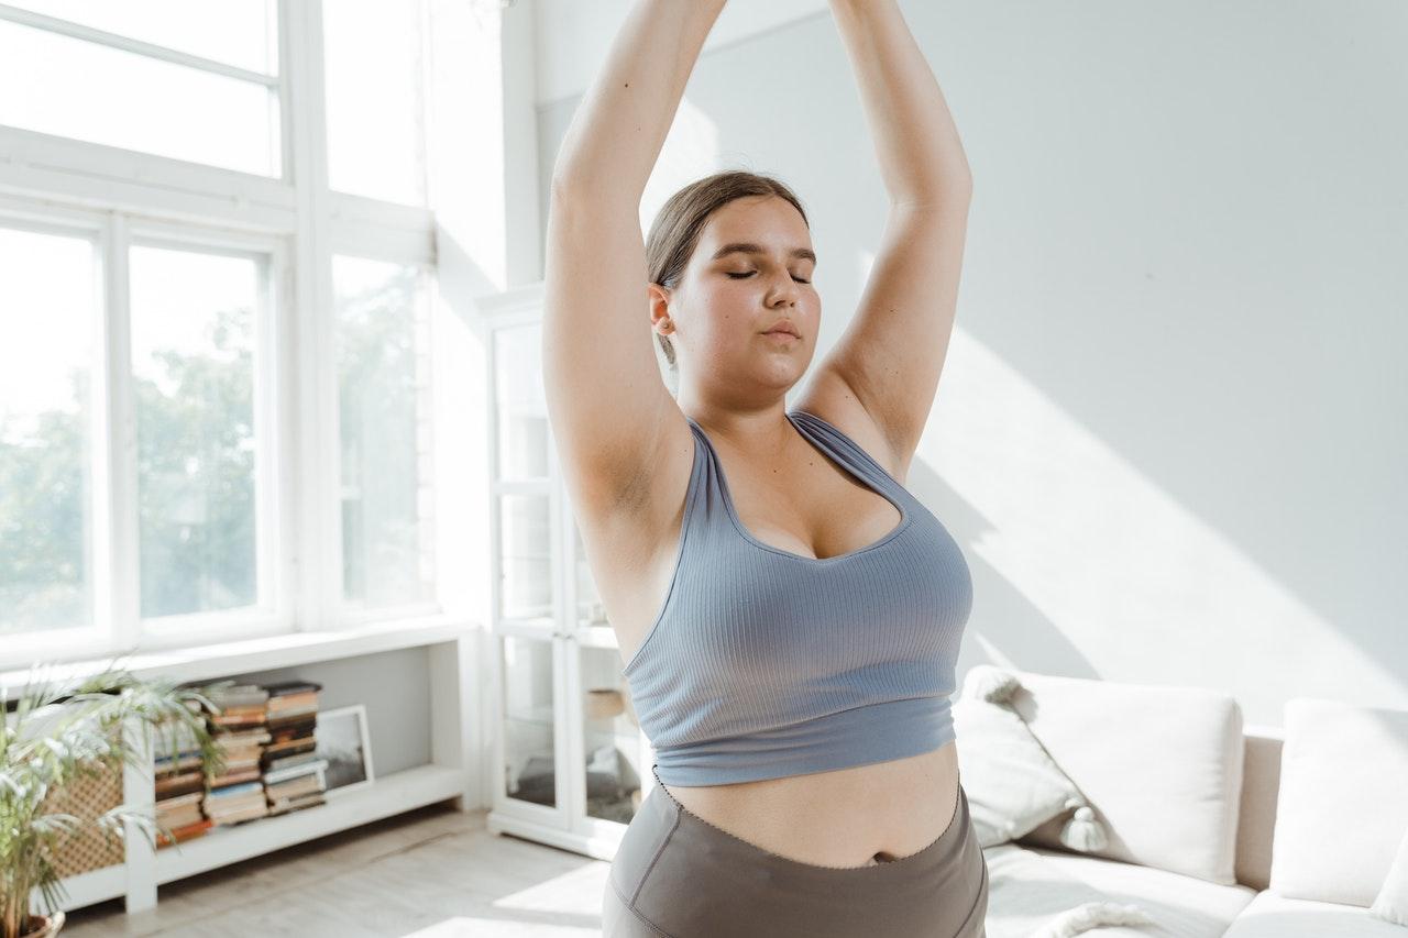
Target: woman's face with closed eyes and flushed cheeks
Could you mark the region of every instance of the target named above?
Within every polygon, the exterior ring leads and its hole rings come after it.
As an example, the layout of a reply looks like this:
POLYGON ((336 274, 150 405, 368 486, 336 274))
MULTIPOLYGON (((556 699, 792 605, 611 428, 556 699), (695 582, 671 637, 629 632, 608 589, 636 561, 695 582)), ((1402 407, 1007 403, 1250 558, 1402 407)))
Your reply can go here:
POLYGON ((674 344, 681 377, 745 396, 749 386, 776 393, 797 383, 821 321, 815 266, 807 223, 786 199, 749 196, 718 208, 663 311, 672 328, 652 313, 656 331, 674 344), (767 334, 784 323, 796 337, 767 334))

